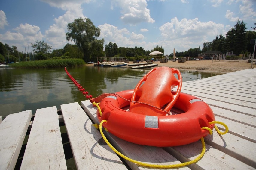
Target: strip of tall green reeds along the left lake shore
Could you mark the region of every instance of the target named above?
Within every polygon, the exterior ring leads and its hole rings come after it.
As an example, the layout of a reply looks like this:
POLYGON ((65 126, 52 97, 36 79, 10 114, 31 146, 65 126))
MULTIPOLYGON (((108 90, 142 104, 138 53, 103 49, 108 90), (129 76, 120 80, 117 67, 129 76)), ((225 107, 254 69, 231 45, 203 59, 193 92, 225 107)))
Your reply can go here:
POLYGON ((82 59, 57 59, 57 60, 39 60, 23 61, 13 63, 10 66, 14 68, 55 68, 55 67, 76 67, 85 64, 82 59))

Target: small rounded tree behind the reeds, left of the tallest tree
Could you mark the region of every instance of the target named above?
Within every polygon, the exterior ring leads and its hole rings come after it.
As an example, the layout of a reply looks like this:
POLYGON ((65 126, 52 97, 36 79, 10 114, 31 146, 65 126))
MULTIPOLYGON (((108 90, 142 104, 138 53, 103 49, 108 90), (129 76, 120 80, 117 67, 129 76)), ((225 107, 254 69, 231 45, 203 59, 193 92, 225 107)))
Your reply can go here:
POLYGON ((38 60, 46 60, 49 57, 52 46, 48 45, 44 41, 35 41, 35 44, 31 43, 33 47, 33 52, 36 54, 38 60))

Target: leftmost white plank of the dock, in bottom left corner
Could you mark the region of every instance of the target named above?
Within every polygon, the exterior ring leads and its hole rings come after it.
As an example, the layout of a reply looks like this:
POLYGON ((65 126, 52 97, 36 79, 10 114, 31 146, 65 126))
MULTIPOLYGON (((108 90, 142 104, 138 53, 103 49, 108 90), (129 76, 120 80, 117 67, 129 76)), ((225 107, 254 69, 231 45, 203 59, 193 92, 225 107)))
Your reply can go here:
POLYGON ((14 113, 0 124, 0 169, 14 169, 31 116, 31 110, 14 113))

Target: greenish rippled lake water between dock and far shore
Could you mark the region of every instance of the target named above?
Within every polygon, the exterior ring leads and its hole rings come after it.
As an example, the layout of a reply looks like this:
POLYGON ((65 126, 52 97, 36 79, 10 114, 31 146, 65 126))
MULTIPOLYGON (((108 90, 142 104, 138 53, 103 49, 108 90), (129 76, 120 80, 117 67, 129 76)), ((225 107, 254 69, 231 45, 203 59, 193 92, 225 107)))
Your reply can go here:
MULTIPOLYGON (((150 69, 130 69, 128 67, 84 66, 67 68, 90 95, 134 89, 139 80, 150 69)), ((0 116, 25 110, 57 106, 86 100, 73 84, 64 68, 11 69, 0 68, 0 116)), ((183 72, 182 81, 215 76, 205 72, 183 72)))

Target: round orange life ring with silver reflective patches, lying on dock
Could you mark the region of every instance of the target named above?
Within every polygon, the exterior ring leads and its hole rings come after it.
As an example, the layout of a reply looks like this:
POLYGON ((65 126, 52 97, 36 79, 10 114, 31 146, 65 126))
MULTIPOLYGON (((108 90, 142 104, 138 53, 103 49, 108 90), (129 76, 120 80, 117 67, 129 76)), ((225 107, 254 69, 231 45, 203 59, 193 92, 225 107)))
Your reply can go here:
POLYGON ((99 122, 107 120, 103 126, 128 142, 157 147, 186 145, 209 134, 202 127, 214 128, 215 124, 209 125, 215 121, 214 113, 197 97, 180 93, 173 107, 184 113, 149 116, 122 109, 129 106, 132 94, 133 90, 110 94, 99 104, 102 115, 97 111, 99 122))

